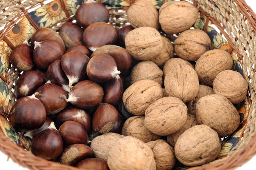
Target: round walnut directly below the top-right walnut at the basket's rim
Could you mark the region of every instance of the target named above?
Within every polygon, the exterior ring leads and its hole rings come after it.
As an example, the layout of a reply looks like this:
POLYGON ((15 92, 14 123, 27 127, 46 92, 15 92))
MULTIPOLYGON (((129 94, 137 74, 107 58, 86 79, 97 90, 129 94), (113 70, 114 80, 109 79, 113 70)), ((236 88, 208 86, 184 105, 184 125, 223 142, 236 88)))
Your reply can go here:
POLYGON ((199 29, 182 32, 174 41, 175 53, 180 58, 197 61, 201 55, 211 48, 211 39, 199 29))

